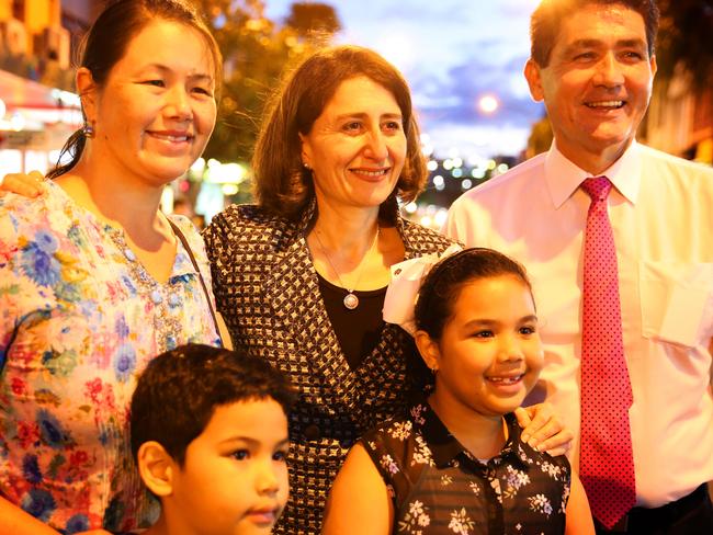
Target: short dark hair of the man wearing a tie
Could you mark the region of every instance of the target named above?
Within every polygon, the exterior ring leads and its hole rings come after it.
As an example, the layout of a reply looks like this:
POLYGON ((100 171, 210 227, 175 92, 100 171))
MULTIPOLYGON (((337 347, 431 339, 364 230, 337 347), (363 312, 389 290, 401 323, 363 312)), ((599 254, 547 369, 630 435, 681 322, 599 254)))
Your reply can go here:
POLYGON ((550 65, 550 55, 566 18, 588 4, 623 5, 644 19, 649 57, 654 55, 658 32, 656 0, 542 0, 530 18, 530 56, 542 68, 550 65))

